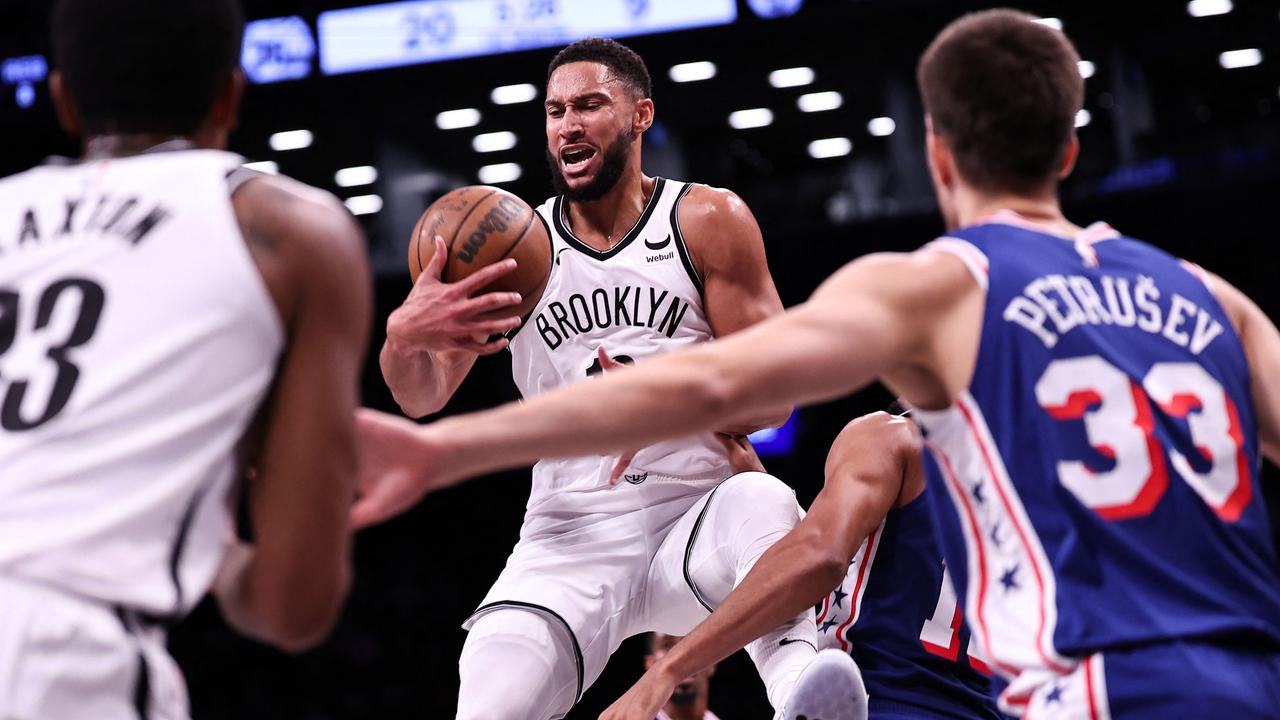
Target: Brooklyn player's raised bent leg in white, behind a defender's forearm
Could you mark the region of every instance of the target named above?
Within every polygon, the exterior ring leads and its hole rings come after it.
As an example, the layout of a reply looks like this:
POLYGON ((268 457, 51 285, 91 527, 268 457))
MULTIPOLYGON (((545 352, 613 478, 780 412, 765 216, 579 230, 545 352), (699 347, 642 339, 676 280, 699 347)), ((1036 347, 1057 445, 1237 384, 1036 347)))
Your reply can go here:
MULTIPOLYGON (((653 629, 692 629, 800 518, 795 493, 772 475, 742 473, 724 480, 681 518, 654 557, 648 598, 653 629)), ((790 696, 815 647, 812 611, 746 646, 774 707, 790 696)))

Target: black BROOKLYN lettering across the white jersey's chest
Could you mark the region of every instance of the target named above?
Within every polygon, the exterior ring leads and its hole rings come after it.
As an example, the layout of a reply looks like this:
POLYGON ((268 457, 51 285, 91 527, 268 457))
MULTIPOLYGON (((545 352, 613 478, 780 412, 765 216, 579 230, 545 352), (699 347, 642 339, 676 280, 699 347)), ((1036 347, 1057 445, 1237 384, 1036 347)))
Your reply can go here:
POLYGON ((667 290, 598 287, 589 296, 575 292, 564 302, 548 302, 534 319, 534 327, 547 347, 556 350, 573 336, 620 325, 653 328, 673 337, 687 311, 689 302, 667 290))

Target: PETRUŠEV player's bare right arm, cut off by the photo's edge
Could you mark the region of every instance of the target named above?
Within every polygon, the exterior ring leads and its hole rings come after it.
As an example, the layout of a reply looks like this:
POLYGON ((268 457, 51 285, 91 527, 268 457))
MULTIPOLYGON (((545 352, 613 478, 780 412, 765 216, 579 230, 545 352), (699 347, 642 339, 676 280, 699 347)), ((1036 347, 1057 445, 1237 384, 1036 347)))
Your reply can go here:
POLYGON ((1231 283, 1212 274, 1210 283, 1244 345, 1262 454, 1280 464, 1280 332, 1266 313, 1231 283))

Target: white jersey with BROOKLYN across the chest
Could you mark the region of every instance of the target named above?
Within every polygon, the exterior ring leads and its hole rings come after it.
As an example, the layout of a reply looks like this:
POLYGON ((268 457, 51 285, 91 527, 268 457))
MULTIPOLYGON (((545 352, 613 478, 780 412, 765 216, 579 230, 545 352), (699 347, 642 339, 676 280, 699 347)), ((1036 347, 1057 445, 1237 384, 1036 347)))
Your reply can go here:
MULTIPOLYGON (((703 310, 701 281, 680 233, 676 211, 689 183, 657 178, 635 227, 608 251, 573 237, 563 197, 538 208, 552 241, 547 290, 511 341, 516 386, 531 397, 584 382, 600 372, 595 351, 604 347, 623 363, 712 338, 703 310)), ((620 370, 620 372, 625 372, 620 370)), ((573 507, 566 491, 608 488, 617 456, 547 459, 534 468, 530 509, 557 497, 573 507)), ((662 442, 641 450, 611 509, 643 506, 643 487, 684 480, 713 487, 732 470, 712 434, 662 442), (628 500, 622 500, 622 497, 628 500)), ((622 484, 622 483, 620 483, 622 484)))

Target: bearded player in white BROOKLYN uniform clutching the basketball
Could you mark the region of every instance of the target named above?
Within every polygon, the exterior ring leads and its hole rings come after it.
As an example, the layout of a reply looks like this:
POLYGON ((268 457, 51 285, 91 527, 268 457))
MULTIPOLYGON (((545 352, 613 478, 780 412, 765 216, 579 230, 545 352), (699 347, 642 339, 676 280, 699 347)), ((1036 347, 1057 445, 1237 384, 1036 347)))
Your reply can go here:
MULTIPOLYGON (((538 209, 553 245, 547 288, 509 340, 525 397, 584 383, 611 356, 644 364, 782 310, 759 227, 737 196, 641 172, 649 95, 644 61, 609 40, 570 45, 550 64, 547 147, 561 195, 538 209)), ((436 245, 434 258, 444 258, 436 245)), ((477 341, 477 331, 518 322, 476 319, 467 304, 477 301, 439 283, 438 265, 390 315, 381 354, 388 386, 413 416, 440 409, 479 354, 507 346, 477 341)), ((746 433, 788 413, 778 405, 717 429, 746 433)), ((731 475, 712 433, 630 461, 541 460, 520 542, 465 624, 458 719, 562 717, 625 638, 684 634, 705 618, 800 518, 776 478, 731 475)), ((774 706, 812 660, 814 635, 804 612, 748 647, 774 706)))

